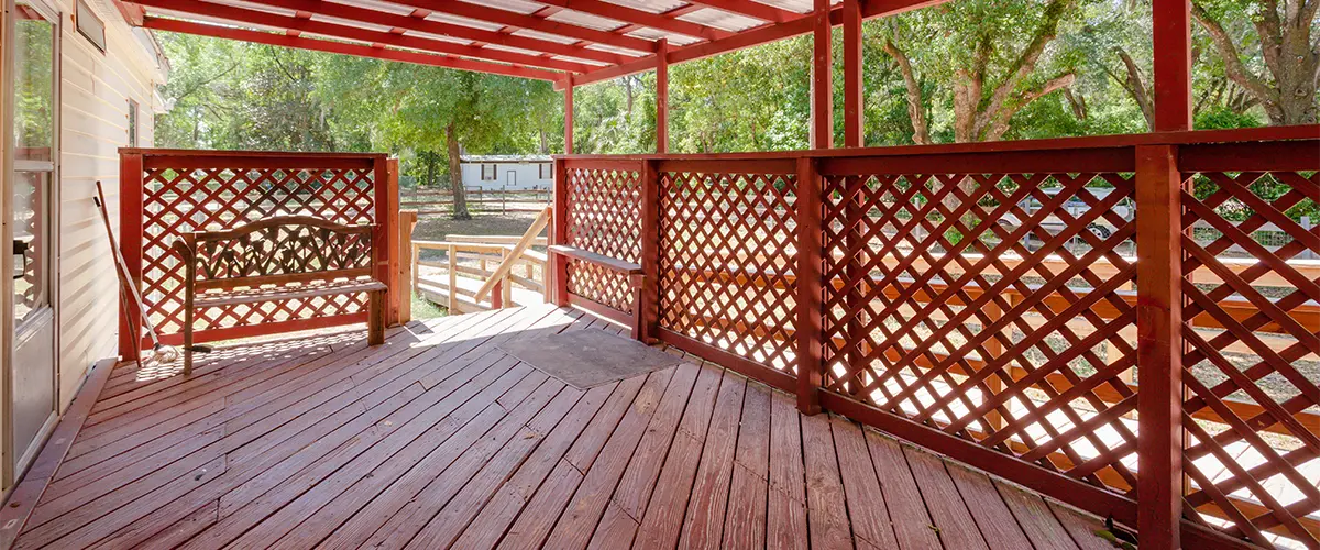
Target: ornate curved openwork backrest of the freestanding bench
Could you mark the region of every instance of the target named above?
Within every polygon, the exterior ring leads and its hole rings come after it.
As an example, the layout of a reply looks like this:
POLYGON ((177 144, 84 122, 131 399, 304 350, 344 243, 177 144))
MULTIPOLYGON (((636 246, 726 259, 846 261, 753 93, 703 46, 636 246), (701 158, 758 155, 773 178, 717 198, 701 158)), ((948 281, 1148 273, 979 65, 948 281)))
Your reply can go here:
POLYGON ((226 231, 183 233, 174 248, 198 291, 370 277, 375 226, 275 216, 226 231))

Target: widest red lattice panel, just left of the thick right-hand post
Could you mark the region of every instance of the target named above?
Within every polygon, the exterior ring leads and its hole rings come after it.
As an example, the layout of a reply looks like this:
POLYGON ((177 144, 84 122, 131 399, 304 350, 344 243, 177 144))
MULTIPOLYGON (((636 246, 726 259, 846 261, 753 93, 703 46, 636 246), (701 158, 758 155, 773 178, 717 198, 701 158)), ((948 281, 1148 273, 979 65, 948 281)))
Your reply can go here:
POLYGON ((1100 487, 1135 487, 1130 175, 824 183, 825 385, 1100 487))

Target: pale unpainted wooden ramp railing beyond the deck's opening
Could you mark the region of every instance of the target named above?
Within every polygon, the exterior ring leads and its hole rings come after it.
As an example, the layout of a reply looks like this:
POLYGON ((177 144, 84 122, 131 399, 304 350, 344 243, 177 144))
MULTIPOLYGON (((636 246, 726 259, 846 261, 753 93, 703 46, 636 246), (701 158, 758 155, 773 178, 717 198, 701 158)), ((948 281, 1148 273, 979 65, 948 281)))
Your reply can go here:
MULTIPOLYGON (((546 255, 532 247, 544 245, 545 237, 539 235, 549 223, 549 216, 550 208, 541 208, 527 232, 517 237, 454 235, 445 241, 413 240, 412 288, 437 301, 451 314, 511 307, 515 305, 516 286, 525 289, 525 293, 535 293, 536 302, 544 302, 549 277, 546 255), (511 243, 504 244, 510 240, 511 243), (444 251, 445 260, 424 260, 422 251, 444 251), (424 274, 422 268, 442 273, 424 274)), ((529 297, 520 298, 517 303, 521 305, 531 301, 529 297)))

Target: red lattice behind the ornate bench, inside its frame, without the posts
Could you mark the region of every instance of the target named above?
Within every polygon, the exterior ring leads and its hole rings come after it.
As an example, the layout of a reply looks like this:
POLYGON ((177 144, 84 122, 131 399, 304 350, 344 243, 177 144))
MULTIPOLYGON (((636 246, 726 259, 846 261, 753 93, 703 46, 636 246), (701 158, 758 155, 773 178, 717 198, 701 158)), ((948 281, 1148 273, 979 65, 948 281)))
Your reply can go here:
MULTIPOLYGON (((275 215, 375 222, 371 169, 158 169, 144 171, 143 293, 164 334, 182 331, 182 265, 170 243, 190 231, 239 227, 275 215)), ((367 297, 315 298, 198 311, 198 331, 366 311, 367 297)))

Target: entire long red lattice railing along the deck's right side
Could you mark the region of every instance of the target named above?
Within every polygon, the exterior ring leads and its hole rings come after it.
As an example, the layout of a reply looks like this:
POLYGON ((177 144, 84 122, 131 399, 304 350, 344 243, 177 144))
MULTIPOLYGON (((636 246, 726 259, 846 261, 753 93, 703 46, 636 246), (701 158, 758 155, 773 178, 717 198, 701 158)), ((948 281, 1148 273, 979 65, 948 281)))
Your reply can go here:
POLYGON ((1150 537, 1320 545, 1320 127, 554 168, 550 248, 643 273, 558 303, 1150 537))

